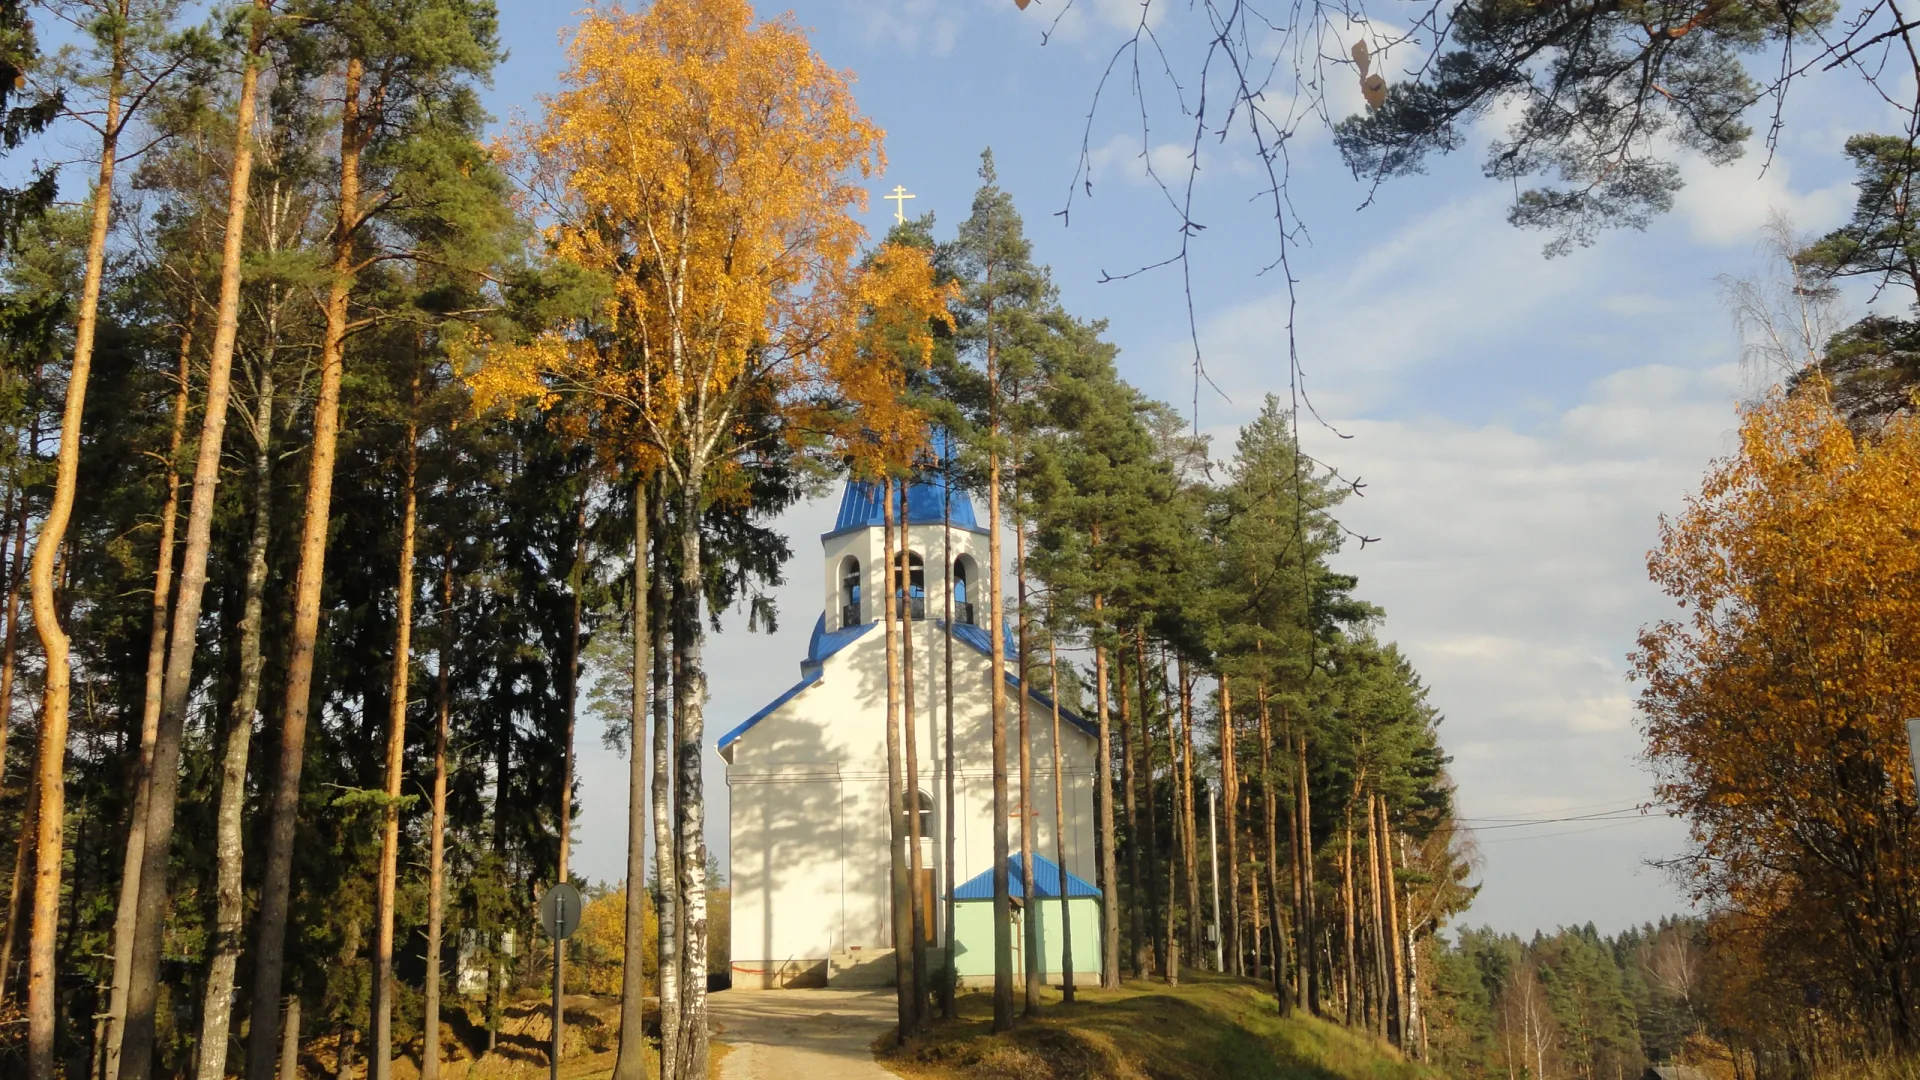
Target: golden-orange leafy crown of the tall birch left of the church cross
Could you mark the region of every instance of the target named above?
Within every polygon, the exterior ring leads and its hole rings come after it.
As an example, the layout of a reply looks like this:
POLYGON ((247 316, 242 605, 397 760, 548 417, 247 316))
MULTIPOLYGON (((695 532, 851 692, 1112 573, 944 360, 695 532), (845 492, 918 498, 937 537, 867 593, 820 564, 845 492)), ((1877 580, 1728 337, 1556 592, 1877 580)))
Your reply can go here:
POLYGON ((749 409, 789 409, 799 432, 837 396, 877 442, 924 429, 899 365, 924 361, 945 292, 924 252, 856 263, 881 131, 791 19, 755 23, 745 0, 591 8, 561 81, 503 154, 549 252, 603 298, 530 342, 476 342, 476 405, 568 404, 603 459, 676 473, 726 459, 749 409))

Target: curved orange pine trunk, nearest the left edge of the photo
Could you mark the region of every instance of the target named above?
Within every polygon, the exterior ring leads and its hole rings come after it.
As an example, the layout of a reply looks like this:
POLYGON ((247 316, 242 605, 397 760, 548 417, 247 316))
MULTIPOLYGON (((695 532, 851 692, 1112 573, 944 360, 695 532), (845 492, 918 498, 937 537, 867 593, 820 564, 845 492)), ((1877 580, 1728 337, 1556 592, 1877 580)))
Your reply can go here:
MULTIPOLYGON (((119 31, 115 31, 119 33, 119 31)), ((60 457, 54 469, 54 500, 40 521, 33 544, 31 596, 33 628, 46 655, 40 705, 40 751, 35 761, 38 807, 35 817, 33 930, 27 940, 27 1076, 54 1080, 54 945, 60 938, 60 871, 67 822, 67 694, 73 669, 67 659, 67 632, 60 625, 54 596, 54 561, 67 538, 73 496, 81 479, 81 417, 86 409, 86 379, 94 363, 94 331, 100 325, 100 281, 106 275, 108 225, 113 217, 113 167, 119 160, 121 81, 127 71, 125 40, 113 42, 113 65, 106 86, 106 135, 100 140, 100 173, 94 179, 92 225, 86 234, 86 277, 73 323, 73 365, 67 371, 67 402, 60 415, 60 457)))

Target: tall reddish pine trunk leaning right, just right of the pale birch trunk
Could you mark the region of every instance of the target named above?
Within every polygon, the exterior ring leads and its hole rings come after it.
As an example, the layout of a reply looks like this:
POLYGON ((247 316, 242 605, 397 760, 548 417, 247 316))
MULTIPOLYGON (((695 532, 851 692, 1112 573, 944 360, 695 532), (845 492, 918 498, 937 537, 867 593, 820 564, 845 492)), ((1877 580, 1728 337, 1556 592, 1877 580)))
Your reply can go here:
POLYGON ((307 749, 307 709, 313 698, 313 650, 321 632, 321 586, 326 577, 326 525, 332 517, 334 452, 340 438, 340 377, 348 334, 348 296, 353 288, 353 236, 359 225, 361 60, 346 65, 340 111, 340 217, 334 225, 332 282, 326 290, 326 332, 321 338, 321 379, 313 400, 313 450, 307 459, 307 505, 300 525, 300 569, 294 580, 294 632, 286 655, 286 705, 280 711, 280 763, 271 788, 267 859, 259 884, 253 945, 253 1009, 248 1032, 248 1080, 273 1076, 280 1028, 280 978, 286 967, 286 917, 294 878, 294 824, 300 815, 300 773, 307 749))

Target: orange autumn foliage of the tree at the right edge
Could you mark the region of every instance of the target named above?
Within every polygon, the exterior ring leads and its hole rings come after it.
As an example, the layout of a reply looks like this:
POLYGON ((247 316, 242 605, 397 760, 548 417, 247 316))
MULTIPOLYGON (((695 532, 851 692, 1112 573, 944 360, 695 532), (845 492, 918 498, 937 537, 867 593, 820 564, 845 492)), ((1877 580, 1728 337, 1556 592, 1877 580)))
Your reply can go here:
POLYGON ((1912 1045, 1920 423, 1862 440, 1824 384, 1768 396, 1649 571, 1684 611, 1632 657, 1680 871, 1755 972, 1912 1045))

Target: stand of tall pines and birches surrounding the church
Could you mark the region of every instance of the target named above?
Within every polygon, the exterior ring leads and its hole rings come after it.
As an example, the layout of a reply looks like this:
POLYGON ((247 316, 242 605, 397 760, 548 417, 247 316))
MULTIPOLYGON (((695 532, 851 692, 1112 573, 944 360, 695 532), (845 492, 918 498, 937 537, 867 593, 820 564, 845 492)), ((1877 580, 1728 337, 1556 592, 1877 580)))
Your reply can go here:
MULTIPOLYGON (((432 1078, 495 1049, 545 976, 534 901, 578 878, 597 709, 647 886, 599 896, 580 982, 622 999, 616 1076, 705 1076, 705 634, 780 617, 780 511, 925 469, 987 502, 996 659, 1104 732, 1110 978, 1210 965, 1213 928, 1288 1009, 1425 1045, 1467 855, 1438 715, 1327 563, 1352 484, 1277 402, 1213 461, 1127 386, 991 156, 950 236, 868 242, 881 133, 741 0, 589 12, 492 140, 486 0, 0 19, 10 138, 92 156, 84 198, 0 200, 4 1070, 432 1078)), ((1000 905, 1058 723, 1004 690, 1000 905)), ((895 792, 912 694, 889 680, 895 792)), ((897 871, 918 828, 895 805, 897 871)), ((933 917, 895 907, 902 940, 933 917)), ((1039 988, 1006 926, 1012 1024, 1039 988)), ((897 955, 910 1034, 952 988, 897 955)))

